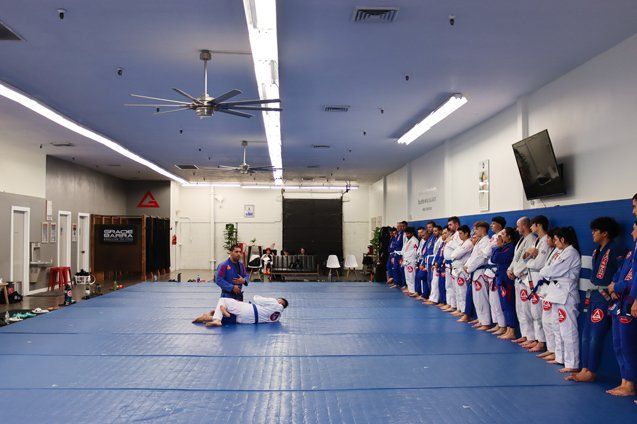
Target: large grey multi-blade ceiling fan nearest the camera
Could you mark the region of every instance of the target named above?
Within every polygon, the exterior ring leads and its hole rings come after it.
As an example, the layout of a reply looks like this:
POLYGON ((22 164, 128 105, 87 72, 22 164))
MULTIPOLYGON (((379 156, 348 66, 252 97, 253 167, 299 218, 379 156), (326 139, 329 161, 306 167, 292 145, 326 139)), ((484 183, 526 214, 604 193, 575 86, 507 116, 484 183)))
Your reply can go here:
MULTIPOLYGON (((212 52, 210 50, 201 50, 199 53, 199 59, 203 61, 203 94, 199 97, 193 97, 190 94, 186 93, 184 90, 180 90, 179 88, 173 88, 177 93, 186 97, 189 101, 183 100, 171 100, 171 99, 162 99, 159 97, 149 97, 142 96, 140 94, 131 94, 132 97, 137 97, 140 99, 147 100, 158 100, 160 102, 167 102, 162 104, 131 104, 127 103, 125 106, 132 107, 152 107, 155 108, 155 114, 159 115, 162 113, 172 113, 179 112, 182 110, 194 110, 197 116, 200 118, 210 117, 215 114, 215 112, 228 113, 230 115, 241 116, 243 118, 251 118, 252 115, 246 112, 242 112, 244 110, 255 110, 255 111, 268 111, 268 112, 280 112, 280 107, 267 107, 262 105, 267 105, 268 103, 281 103, 279 99, 264 99, 264 100, 238 100, 238 101, 227 101, 235 96, 241 94, 241 90, 230 90, 227 93, 221 94, 217 97, 212 97, 208 94, 208 61, 212 59, 212 52), (164 108, 170 108, 170 110, 161 110, 164 108)), ((245 161, 244 161, 245 162, 245 161)))

